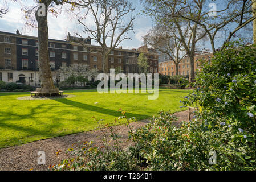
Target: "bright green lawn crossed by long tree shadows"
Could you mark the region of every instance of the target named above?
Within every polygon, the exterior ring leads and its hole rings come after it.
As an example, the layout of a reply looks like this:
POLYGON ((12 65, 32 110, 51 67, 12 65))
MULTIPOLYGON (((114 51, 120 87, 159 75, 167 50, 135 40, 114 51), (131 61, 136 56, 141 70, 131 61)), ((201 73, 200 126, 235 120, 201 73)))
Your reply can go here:
POLYGON ((157 100, 148 94, 99 94, 96 90, 67 90, 76 97, 56 100, 17 100, 29 92, 0 93, 0 148, 94 130, 92 119, 111 123, 120 116, 120 108, 128 117, 150 118, 160 110, 181 111, 180 100, 190 91, 160 89, 157 100), (98 102, 98 104, 95 104, 98 102))

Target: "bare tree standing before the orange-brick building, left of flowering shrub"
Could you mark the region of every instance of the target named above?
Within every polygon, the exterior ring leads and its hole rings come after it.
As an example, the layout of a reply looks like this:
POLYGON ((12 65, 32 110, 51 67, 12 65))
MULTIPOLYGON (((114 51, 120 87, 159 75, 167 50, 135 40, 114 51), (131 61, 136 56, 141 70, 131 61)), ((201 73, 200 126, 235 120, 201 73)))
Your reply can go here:
MULTIPOLYGON (((177 30, 177 39, 182 43, 186 55, 190 60, 189 81, 194 82, 194 54, 196 52, 197 43, 205 38, 206 32, 198 27, 197 22, 192 22, 181 16, 177 16, 179 12, 186 13, 184 7, 187 7, 187 1, 144 0, 143 2, 144 12, 154 18, 157 24, 164 24, 164 26, 168 26, 170 29, 174 28, 177 30)), ((200 6, 199 10, 195 10, 194 8, 189 9, 191 14, 193 14, 194 11, 198 11, 198 14, 194 13, 194 19, 201 18, 202 2, 198 6, 200 6)))

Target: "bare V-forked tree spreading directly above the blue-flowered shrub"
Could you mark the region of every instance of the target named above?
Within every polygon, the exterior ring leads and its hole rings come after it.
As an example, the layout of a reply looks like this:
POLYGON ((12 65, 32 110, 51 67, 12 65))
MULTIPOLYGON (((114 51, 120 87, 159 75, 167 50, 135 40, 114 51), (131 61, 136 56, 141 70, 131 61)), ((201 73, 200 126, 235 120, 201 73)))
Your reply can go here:
MULTIPOLYGON (((168 6, 172 6, 172 2, 177 2, 177 0, 161 1, 168 6)), ((197 24, 200 28, 204 28, 210 40, 212 51, 216 53, 215 41, 217 33, 223 34, 223 32, 229 32, 229 36, 225 40, 223 38, 221 40, 223 42, 221 49, 223 49, 237 31, 256 19, 256 15, 252 15, 251 7, 253 1, 255 0, 221 1, 222 9, 219 6, 218 10, 216 7, 215 12, 213 12, 214 10, 210 10, 209 12, 208 6, 212 1, 188 0, 184 3, 182 9, 176 11, 172 17, 184 18, 197 24), (212 15, 210 15, 211 13, 212 15)))

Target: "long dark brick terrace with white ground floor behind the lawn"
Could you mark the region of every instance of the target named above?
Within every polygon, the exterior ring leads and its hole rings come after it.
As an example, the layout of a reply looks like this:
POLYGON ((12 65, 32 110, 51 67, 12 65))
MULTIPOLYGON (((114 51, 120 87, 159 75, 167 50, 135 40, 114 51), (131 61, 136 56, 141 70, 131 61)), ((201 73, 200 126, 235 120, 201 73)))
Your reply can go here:
MULTIPOLYGON (((70 64, 86 64, 90 69, 103 72, 101 53, 92 51, 96 49, 100 47, 92 45, 90 37, 80 39, 68 33, 67 40, 49 39, 48 53, 53 79, 56 79, 56 70, 70 64), (83 44, 78 40, 82 40, 83 44)), ((157 73, 157 52, 147 46, 132 50, 116 48, 108 55, 105 67, 108 72, 114 68, 122 73, 140 73, 137 65, 140 52, 148 57, 148 71, 157 73)), ((0 81, 40 85, 37 37, 21 35, 18 30, 16 34, 0 32, 0 81)))

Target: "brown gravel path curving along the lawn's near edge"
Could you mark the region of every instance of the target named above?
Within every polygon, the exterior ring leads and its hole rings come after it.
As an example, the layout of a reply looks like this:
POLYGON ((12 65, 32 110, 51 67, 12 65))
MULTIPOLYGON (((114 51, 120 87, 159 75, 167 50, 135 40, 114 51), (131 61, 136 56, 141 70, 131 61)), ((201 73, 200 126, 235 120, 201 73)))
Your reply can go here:
MULTIPOLYGON (((175 113, 178 117, 178 121, 175 125, 178 125, 181 121, 188 120, 188 111, 181 111, 175 113)), ((146 125, 149 121, 138 121, 133 122, 131 125, 133 129, 139 129, 140 127, 146 125)), ((117 133, 123 135, 121 140, 123 140, 123 146, 127 145, 125 143, 128 137, 128 128, 124 125, 113 126, 117 133)), ((107 131, 108 129, 104 129, 107 131)), ((64 137, 56 137, 45 140, 38 140, 36 142, 22 144, 21 146, 12 146, 8 148, 0 149, 0 171, 10 170, 10 171, 26 171, 29 169, 46 171, 48 167, 52 164, 58 164, 61 160, 66 159, 67 156, 64 152, 72 147, 72 144, 76 142, 84 142, 93 140, 95 144, 100 145, 100 139, 97 138, 102 136, 100 130, 87 131, 84 133, 66 135, 64 137), (56 156, 56 152, 61 150, 62 152, 56 156), (46 164, 39 165, 38 151, 44 151, 46 154, 46 164)))

